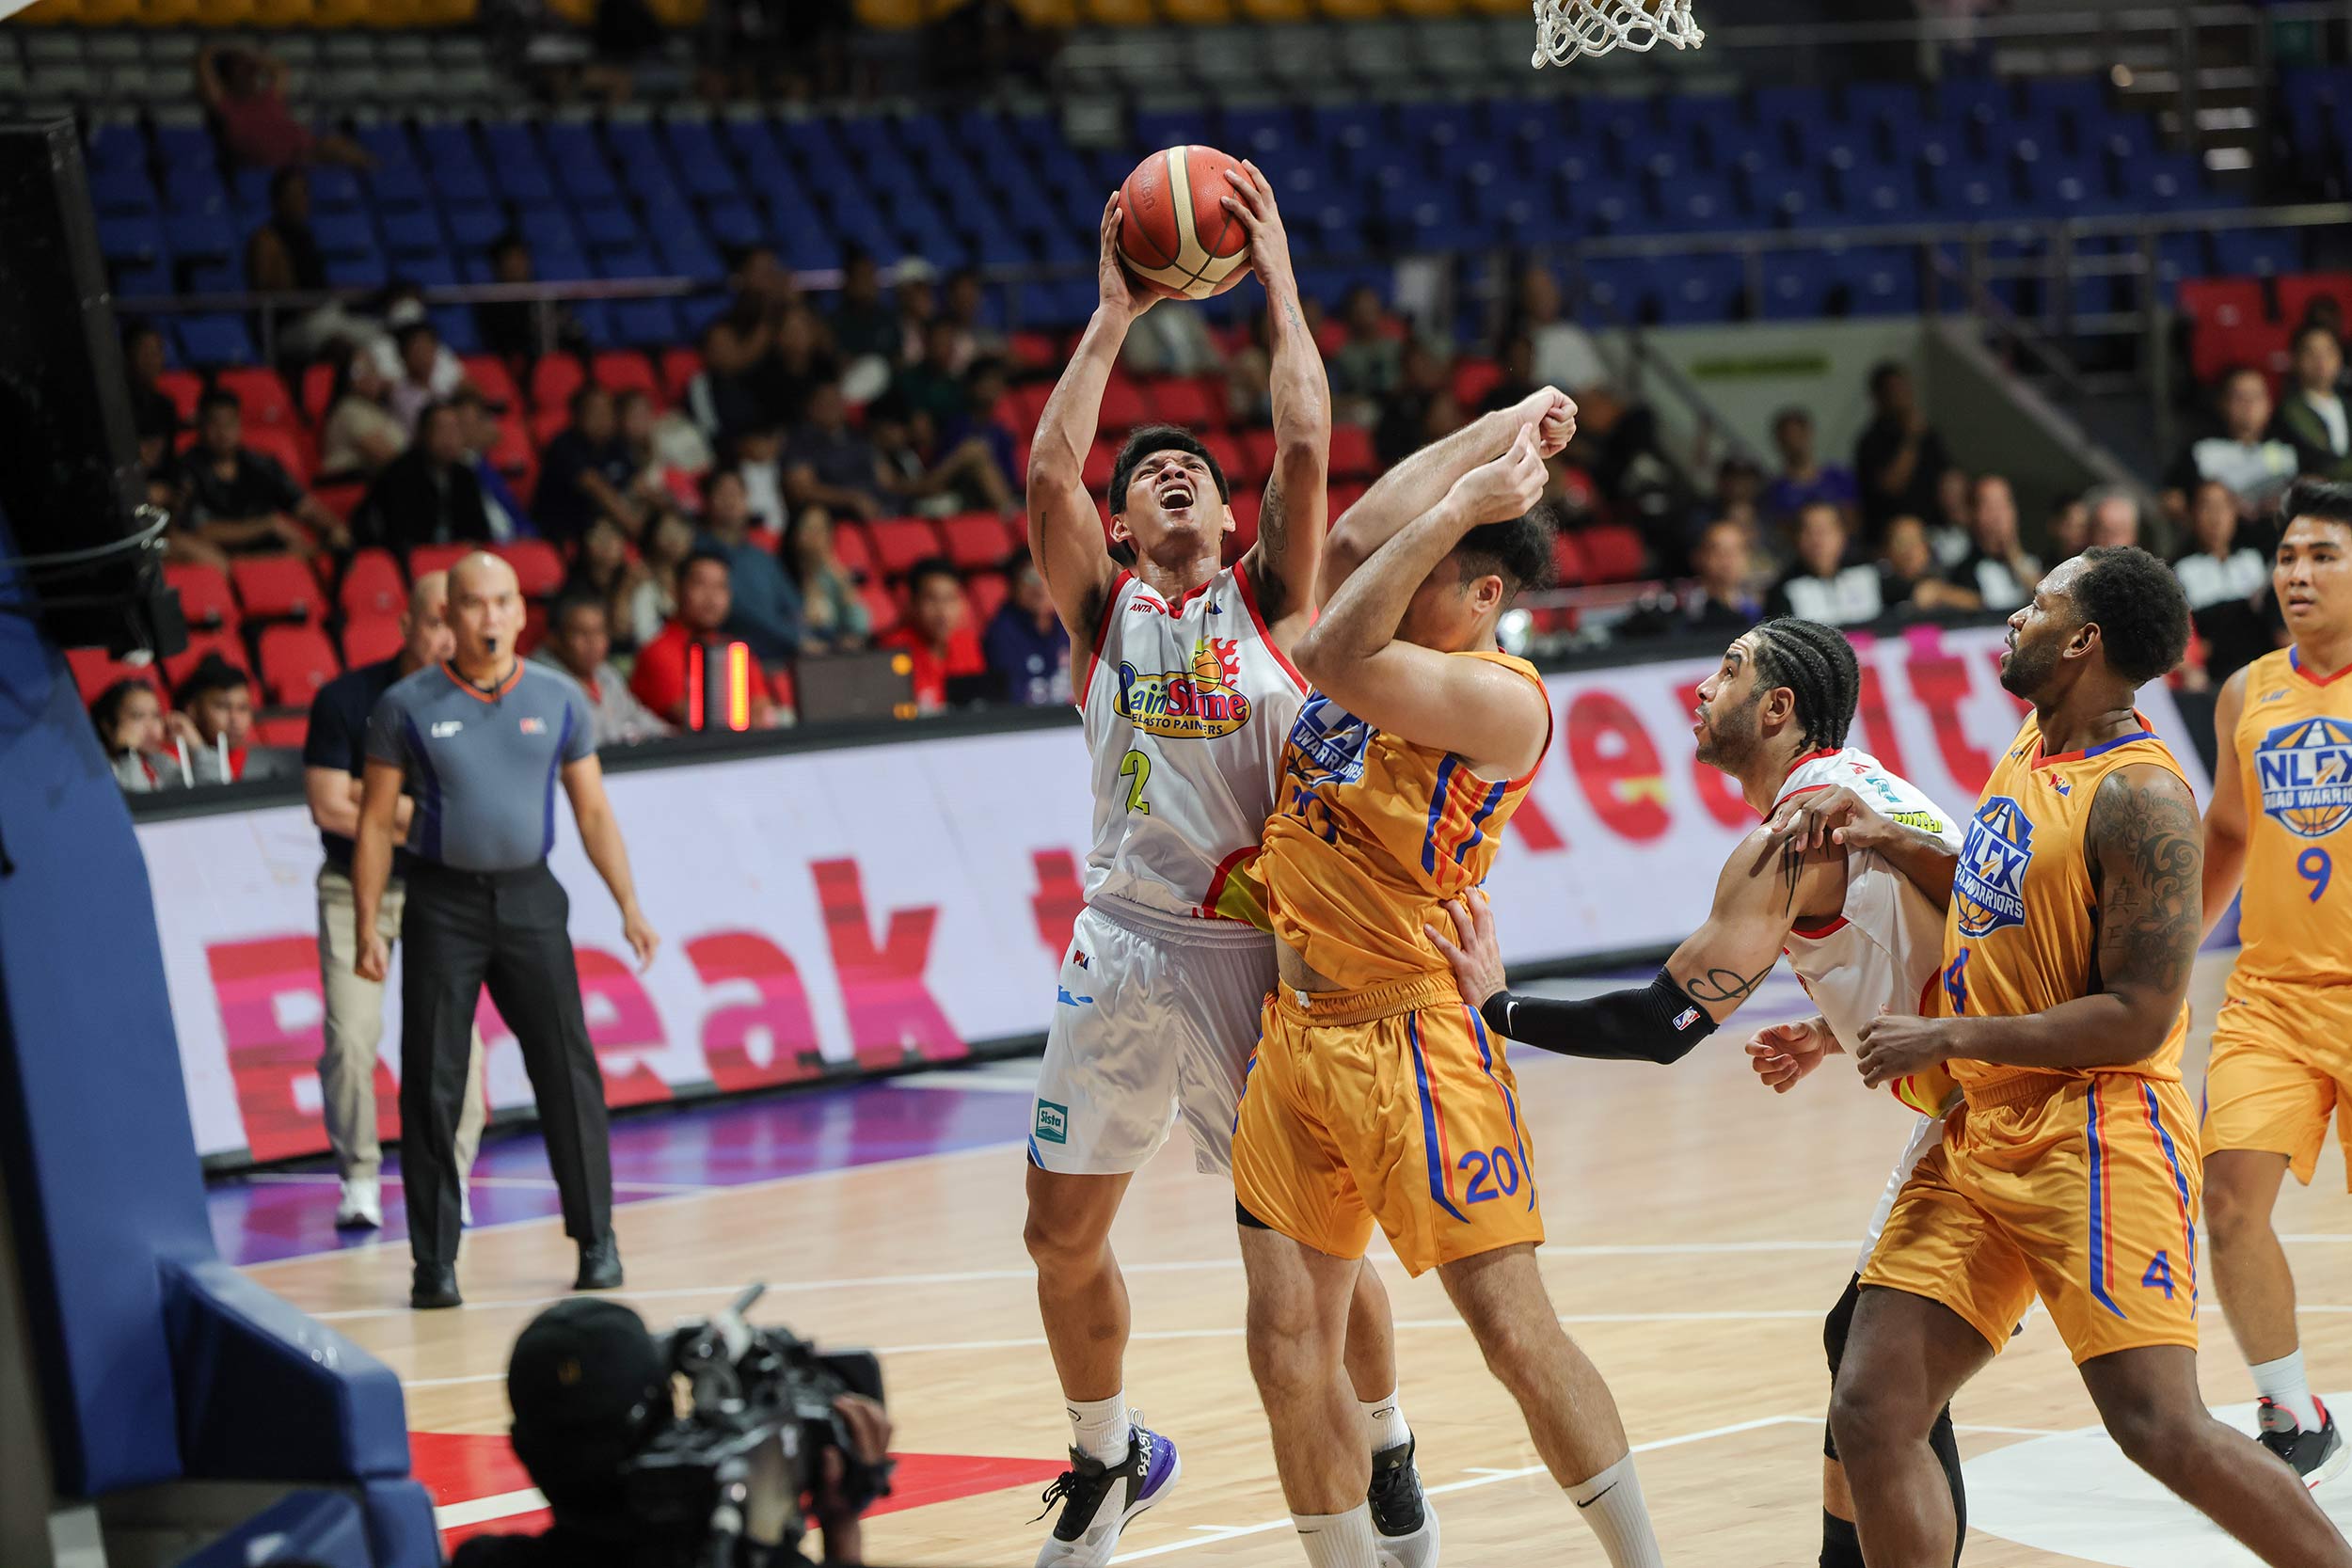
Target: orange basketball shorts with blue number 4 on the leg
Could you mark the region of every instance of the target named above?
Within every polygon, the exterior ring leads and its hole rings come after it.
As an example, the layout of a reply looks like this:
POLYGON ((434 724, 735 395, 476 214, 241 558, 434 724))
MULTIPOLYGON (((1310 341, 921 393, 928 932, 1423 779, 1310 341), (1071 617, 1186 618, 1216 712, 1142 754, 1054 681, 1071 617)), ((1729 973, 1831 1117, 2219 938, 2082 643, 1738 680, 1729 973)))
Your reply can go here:
POLYGON ((2077 1366, 2194 1347, 2204 1171, 2187 1093, 2122 1072, 2027 1088, 1952 1112, 1863 1284, 1943 1302, 1994 1349, 2039 1295, 2077 1366))

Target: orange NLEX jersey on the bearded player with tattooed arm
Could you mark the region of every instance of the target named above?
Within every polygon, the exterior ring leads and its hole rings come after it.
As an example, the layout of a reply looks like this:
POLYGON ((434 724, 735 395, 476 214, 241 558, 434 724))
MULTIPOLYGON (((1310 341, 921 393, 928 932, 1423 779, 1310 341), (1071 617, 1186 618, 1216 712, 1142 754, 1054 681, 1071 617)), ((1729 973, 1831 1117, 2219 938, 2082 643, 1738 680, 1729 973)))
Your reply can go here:
MULTIPOLYGON (((2025 719, 1985 783, 1952 875, 1952 912, 1943 929, 1947 1018, 2016 1018, 2091 994, 2098 891, 2084 856, 2084 830, 2098 785, 2133 764, 2180 773, 2173 755, 2147 731, 2147 719, 2140 719, 2138 733, 2060 757, 2042 755, 2042 729, 2025 719)), ((2187 1009, 2154 1056, 2091 1072, 2178 1081, 2185 1037, 2187 1009)), ((2053 1091, 2086 1077, 1973 1060, 1952 1060, 1950 1067, 1971 1105, 2002 1105, 2030 1098, 2037 1084, 2053 1091)))

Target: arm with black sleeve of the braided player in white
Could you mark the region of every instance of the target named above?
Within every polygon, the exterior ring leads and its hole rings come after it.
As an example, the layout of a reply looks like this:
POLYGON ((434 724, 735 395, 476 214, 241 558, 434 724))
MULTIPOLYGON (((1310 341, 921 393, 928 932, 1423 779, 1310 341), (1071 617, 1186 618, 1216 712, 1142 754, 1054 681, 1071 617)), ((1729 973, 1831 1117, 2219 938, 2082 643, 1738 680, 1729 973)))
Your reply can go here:
POLYGON ((1799 919, 1846 900, 1842 849, 1748 835, 1715 879, 1715 907, 1644 985, 1599 997, 1526 997, 1503 985, 1503 950, 1484 898, 1449 903, 1451 931, 1428 929, 1463 999, 1505 1039, 1595 1060, 1677 1063, 1731 1018, 1780 961, 1799 919))

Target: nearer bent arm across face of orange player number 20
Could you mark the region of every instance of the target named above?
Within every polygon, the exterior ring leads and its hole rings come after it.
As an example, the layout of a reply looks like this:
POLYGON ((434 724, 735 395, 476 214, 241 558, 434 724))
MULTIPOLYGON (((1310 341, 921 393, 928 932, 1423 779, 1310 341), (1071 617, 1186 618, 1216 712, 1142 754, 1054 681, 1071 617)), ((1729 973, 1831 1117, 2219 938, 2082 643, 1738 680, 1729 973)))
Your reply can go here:
MULTIPOLYGON (((1397 628, 1414 592, 1465 534, 1524 517, 1541 494, 1543 458, 1534 425, 1524 425, 1510 451, 1456 480, 1348 578, 1298 639, 1298 670, 1374 729, 1454 752, 1479 778, 1517 778, 1536 766, 1550 736, 1543 689, 1494 661, 1404 642, 1397 628)), ((1472 576, 1465 562, 1458 592, 1501 599, 1510 588, 1498 574, 1472 576)))

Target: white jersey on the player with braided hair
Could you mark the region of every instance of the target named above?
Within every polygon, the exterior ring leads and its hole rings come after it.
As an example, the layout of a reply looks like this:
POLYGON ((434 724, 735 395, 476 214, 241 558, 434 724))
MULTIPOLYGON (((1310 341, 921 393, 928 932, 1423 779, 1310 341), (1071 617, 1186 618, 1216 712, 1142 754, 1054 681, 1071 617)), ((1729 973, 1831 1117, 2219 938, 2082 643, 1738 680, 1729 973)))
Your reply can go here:
MULTIPOLYGON (((1879 813, 1905 827, 1933 832, 1955 851, 1962 830, 1943 806, 1915 790, 1870 752, 1813 752, 1799 757, 1780 785, 1780 802, 1809 790, 1846 785, 1879 813)), ((1846 851, 1846 907, 1820 926, 1797 926, 1788 936, 1788 964, 1813 1006, 1849 1053, 1860 1046, 1863 1025, 1879 1009, 1919 1016, 1943 969, 1943 910, 1886 865, 1875 851, 1846 851)))

